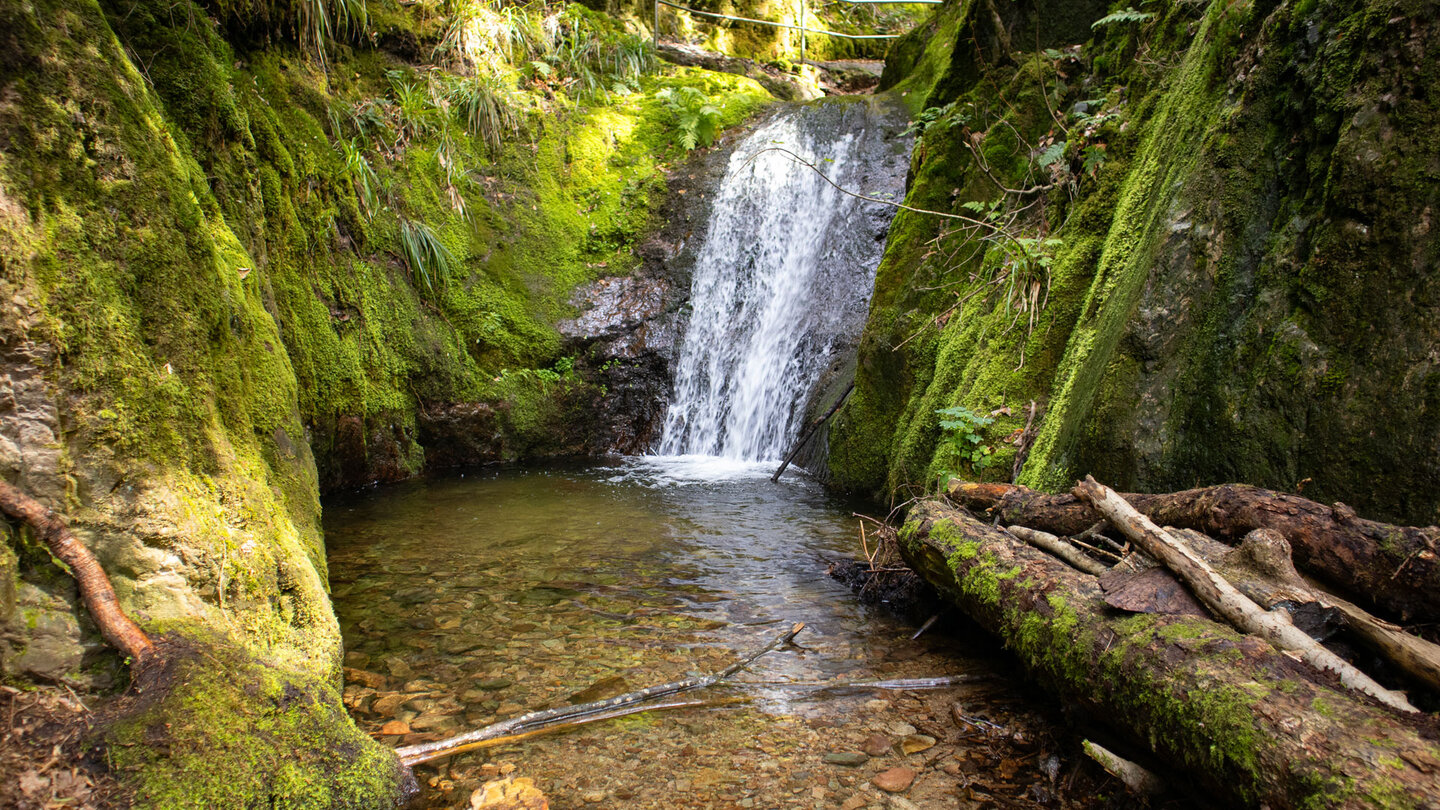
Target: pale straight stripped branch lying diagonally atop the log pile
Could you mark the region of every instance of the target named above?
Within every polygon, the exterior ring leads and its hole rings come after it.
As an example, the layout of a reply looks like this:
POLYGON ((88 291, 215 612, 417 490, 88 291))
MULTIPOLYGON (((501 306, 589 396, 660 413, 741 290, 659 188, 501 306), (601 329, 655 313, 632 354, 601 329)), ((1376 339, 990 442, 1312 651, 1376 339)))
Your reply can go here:
POLYGON ((1364 692, 1381 703, 1403 712, 1418 712, 1404 695, 1385 689, 1372 677, 1355 669, 1348 662, 1320 646, 1315 638, 1300 631, 1284 611, 1266 611, 1225 581, 1189 546, 1176 540, 1169 532, 1140 515, 1115 490, 1097 483, 1093 477, 1076 484, 1074 494, 1090 503, 1112 526, 1130 538, 1145 553, 1153 556, 1175 572, 1189 589, 1217 615, 1244 633, 1266 638, 1280 650, 1292 650, 1315 666, 1339 676, 1345 686, 1364 692))

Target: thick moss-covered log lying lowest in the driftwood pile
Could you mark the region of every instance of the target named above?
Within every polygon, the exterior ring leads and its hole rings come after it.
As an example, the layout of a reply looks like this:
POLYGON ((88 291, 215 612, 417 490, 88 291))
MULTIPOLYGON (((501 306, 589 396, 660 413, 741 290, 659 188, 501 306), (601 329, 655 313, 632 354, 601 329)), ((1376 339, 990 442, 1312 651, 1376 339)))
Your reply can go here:
POLYGON ((968 513, 920 503, 906 559, 1067 702, 1246 806, 1428 807, 1423 724, 1266 644, 1188 615, 1122 614, 1093 577, 968 513))

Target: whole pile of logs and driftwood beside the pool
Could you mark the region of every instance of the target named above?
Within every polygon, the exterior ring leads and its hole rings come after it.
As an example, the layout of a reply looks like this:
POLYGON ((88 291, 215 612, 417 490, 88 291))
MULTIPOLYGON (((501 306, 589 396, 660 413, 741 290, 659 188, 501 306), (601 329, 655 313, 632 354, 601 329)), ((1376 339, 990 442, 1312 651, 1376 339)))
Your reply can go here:
POLYGON ((912 509, 901 553, 1063 699, 1231 801, 1440 807, 1440 725, 1394 687, 1440 693, 1440 647, 1296 569, 1436 621, 1440 529, 1243 486, 948 494, 912 509), (1316 640, 1336 630, 1405 683, 1316 640))

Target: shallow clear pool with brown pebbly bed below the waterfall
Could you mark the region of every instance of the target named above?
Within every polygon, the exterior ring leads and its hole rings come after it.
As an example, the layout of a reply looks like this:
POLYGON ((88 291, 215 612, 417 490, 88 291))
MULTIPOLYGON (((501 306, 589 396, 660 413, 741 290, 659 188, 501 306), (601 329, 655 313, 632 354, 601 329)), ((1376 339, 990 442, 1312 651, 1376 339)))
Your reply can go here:
POLYGON ((1099 807, 1097 790, 1119 793, 1015 692, 991 641, 948 621, 912 641, 825 577, 858 536, 852 504, 768 473, 626 461, 327 503, 347 706, 389 744, 438 739, 720 670, 806 621, 737 676, 763 685, 419 765, 423 804, 469 807, 507 775, 557 809, 1099 807), (956 675, 930 690, 805 686, 956 675))

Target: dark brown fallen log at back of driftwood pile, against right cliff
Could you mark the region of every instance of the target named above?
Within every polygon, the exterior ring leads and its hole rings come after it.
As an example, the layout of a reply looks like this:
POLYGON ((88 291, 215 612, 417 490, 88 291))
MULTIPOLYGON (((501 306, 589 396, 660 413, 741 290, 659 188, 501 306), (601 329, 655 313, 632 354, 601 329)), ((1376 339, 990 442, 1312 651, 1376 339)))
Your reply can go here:
MULTIPOLYGON (((1079 535, 1097 517, 1073 494, 1015 484, 956 480, 949 497, 1001 523, 1054 535, 1079 535)), ((1243 484, 1120 497, 1161 526, 1195 529, 1231 543, 1254 529, 1274 529, 1290 542, 1296 565, 1316 578, 1401 621, 1440 621, 1440 528, 1391 526, 1356 517, 1344 503, 1325 506, 1243 484)))

